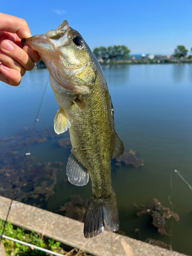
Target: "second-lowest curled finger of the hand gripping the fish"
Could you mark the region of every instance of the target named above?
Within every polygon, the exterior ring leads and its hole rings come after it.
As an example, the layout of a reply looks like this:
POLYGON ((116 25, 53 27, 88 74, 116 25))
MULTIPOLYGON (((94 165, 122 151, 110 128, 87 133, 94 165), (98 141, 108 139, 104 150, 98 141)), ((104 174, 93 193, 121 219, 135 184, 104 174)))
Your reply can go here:
POLYGON ((4 54, 0 50, 0 62, 2 62, 5 66, 17 70, 21 76, 24 76, 26 73, 26 70, 24 67, 22 67, 16 60, 11 58, 10 56, 4 54))

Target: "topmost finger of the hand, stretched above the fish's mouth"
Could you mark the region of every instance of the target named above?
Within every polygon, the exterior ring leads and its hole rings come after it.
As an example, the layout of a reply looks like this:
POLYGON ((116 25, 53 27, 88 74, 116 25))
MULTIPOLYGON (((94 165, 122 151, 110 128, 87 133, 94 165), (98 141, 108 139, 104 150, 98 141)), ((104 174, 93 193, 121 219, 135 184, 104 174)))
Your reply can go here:
POLYGON ((27 22, 24 19, 4 13, 0 13, 0 30, 16 33, 21 39, 31 36, 27 22))

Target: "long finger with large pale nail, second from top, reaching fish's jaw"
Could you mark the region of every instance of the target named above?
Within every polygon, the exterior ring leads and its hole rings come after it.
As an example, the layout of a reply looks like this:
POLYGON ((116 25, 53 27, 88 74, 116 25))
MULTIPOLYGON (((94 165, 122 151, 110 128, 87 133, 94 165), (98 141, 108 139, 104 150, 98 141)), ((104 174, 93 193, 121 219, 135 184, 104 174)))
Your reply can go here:
POLYGON ((20 63, 25 70, 29 71, 33 69, 34 62, 29 55, 12 41, 3 40, 0 44, 0 50, 20 63))

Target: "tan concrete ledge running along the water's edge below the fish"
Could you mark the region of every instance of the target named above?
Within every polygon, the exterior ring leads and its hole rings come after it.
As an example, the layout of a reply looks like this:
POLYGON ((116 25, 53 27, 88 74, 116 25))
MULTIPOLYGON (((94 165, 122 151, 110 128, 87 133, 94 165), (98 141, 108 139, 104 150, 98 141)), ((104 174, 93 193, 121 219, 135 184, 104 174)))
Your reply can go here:
MULTIPOLYGON (((0 218, 5 220, 11 200, 0 196, 0 218)), ((112 255, 112 237, 104 231, 99 237, 87 242, 83 236, 83 223, 63 217, 47 210, 13 201, 9 221, 44 236, 53 238, 73 248, 86 249, 90 254, 98 256, 112 255)), ((129 237, 113 233, 114 256, 184 256, 184 254, 169 251, 158 246, 150 245, 129 237)))

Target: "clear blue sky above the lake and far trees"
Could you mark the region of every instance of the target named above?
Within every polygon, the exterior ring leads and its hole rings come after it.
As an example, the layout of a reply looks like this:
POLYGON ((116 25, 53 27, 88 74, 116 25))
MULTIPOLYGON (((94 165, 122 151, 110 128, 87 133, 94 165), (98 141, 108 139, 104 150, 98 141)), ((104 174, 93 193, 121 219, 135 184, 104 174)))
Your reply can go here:
POLYGON ((177 45, 192 47, 192 0, 9 0, 1 12, 24 18, 32 35, 67 19, 92 50, 126 45, 131 54, 173 54, 177 45))

